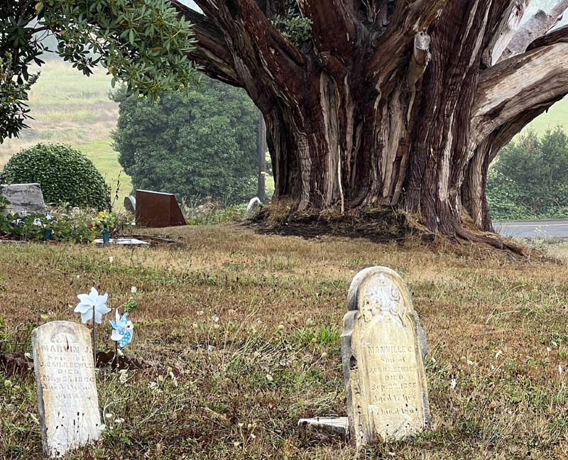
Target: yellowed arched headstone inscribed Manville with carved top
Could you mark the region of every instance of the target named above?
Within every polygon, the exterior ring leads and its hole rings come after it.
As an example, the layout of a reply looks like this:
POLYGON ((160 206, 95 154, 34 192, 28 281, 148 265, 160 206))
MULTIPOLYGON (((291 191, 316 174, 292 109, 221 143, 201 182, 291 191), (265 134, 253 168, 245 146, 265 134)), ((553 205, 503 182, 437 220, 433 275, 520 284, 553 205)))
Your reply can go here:
POLYGON ((363 446, 430 428, 426 339, 402 278, 386 267, 351 283, 342 362, 349 432, 363 446))

